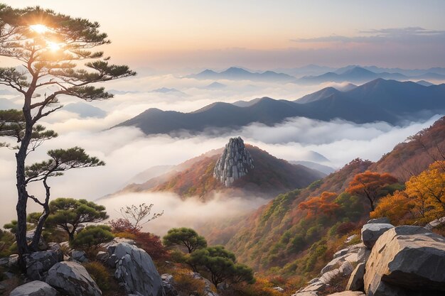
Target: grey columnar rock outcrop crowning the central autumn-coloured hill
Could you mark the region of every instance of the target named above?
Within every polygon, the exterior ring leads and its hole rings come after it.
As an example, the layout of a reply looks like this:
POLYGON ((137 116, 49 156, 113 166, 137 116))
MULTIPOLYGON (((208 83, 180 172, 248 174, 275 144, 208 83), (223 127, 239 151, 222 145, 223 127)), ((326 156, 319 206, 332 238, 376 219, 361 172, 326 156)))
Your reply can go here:
POLYGON ((253 159, 245 148, 242 138, 230 138, 223 154, 216 162, 213 177, 225 187, 230 187, 235 180, 246 175, 253 168, 253 159))

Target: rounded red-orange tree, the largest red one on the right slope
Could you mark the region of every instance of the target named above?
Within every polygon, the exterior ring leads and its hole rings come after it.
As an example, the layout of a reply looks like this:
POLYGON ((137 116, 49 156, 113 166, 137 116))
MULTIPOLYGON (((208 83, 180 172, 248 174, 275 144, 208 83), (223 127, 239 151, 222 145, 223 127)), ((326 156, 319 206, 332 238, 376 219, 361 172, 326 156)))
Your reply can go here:
POLYGON ((397 182, 397 178, 387 172, 380 174, 367 170, 355 175, 345 191, 368 199, 371 211, 374 211, 377 198, 385 196, 388 186, 397 182))

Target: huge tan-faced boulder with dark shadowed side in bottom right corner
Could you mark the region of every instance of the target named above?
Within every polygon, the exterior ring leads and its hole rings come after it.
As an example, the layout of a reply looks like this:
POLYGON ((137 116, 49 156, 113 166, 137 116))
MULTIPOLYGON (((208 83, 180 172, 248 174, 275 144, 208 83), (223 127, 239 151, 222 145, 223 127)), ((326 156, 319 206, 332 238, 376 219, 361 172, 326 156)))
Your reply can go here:
POLYGON ((406 291, 417 290, 444 295, 444 270, 443 236, 419 226, 398 226, 382 234, 372 248, 363 278, 365 292, 368 296, 411 295, 406 291))

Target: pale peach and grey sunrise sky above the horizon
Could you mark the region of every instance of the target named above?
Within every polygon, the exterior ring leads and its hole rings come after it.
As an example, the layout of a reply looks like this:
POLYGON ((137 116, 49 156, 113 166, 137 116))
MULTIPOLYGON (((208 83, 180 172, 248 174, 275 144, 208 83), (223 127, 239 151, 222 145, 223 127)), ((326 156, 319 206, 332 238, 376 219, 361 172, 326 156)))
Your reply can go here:
POLYGON ((2 2, 98 21, 104 50, 133 67, 445 66, 440 0, 2 2))

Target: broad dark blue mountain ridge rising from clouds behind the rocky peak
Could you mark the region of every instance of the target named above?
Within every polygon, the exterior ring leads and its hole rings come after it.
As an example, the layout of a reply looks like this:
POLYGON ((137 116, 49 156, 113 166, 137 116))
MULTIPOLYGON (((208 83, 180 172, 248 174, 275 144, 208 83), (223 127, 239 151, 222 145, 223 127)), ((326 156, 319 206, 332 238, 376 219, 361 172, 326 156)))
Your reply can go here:
POLYGON ((147 134, 200 132, 206 128, 240 128, 254 122, 272 126, 296 116, 322 121, 338 118, 358 124, 403 124, 406 119, 426 119, 444 111, 445 84, 424 87, 415 82, 377 79, 348 92, 327 88, 301 99, 291 102, 264 97, 252 104, 217 102, 191 113, 148 109, 118 126, 136 126, 147 134))

